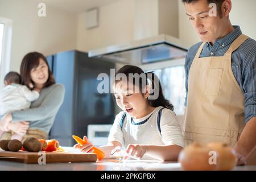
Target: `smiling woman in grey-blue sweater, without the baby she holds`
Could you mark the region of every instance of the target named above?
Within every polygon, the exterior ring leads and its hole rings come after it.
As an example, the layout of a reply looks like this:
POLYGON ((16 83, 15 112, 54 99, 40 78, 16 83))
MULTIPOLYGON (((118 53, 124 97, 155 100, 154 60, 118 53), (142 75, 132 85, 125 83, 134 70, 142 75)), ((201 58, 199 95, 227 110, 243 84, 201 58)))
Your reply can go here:
MULTIPOLYGON (((55 84, 52 72, 49 69, 46 57, 42 53, 31 52, 24 56, 20 65, 22 85, 31 90, 40 92, 38 100, 32 102, 30 109, 7 113, 1 123, 10 123, 13 132, 15 130, 27 130, 22 141, 27 137, 47 139, 53 125, 57 111, 64 100, 65 88, 55 84)), ((10 128, 10 127, 9 127, 10 128)), ((10 139, 11 131, 4 133, 1 139, 10 139)))

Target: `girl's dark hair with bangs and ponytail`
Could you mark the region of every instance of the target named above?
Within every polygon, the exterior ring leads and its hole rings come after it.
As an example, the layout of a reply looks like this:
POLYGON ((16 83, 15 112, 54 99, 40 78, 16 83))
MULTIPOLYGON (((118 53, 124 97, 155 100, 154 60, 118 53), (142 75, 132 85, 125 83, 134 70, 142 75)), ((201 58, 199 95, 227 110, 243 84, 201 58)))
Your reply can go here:
MULTIPOLYGON (((158 79, 158 77, 155 75, 155 73, 153 72, 149 72, 152 76, 149 77, 148 74, 149 73, 144 73, 143 70, 139 67, 136 67, 134 65, 125 65, 122 68, 120 68, 116 73, 115 76, 117 76, 119 73, 123 73, 125 74, 126 78, 129 78, 129 73, 132 74, 138 74, 138 75, 145 75, 146 78, 149 78, 150 81, 152 82, 152 88, 157 88, 158 87, 158 98, 156 98, 155 100, 148 100, 148 104, 152 107, 158 107, 158 106, 163 106, 166 107, 167 109, 170 110, 174 110, 174 106, 170 103, 170 101, 166 100, 166 98, 164 98, 163 96, 163 90, 162 90, 162 86, 160 84, 160 82, 158 82, 158 85, 155 85, 155 80, 158 79)), ((147 80, 147 79, 146 79, 147 80)), ((120 80, 116 80, 115 83, 119 82, 120 80)), ((131 81, 131 80, 127 80, 131 81)), ((136 84, 137 82, 135 81, 135 78, 133 77, 133 84, 136 84)), ((146 85, 148 85, 148 82, 146 81, 146 85)), ((142 90, 145 86, 145 84, 143 84, 142 79, 139 79, 139 89, 142 90)), ((154 94, 154 93, 153 93, 154 94)))

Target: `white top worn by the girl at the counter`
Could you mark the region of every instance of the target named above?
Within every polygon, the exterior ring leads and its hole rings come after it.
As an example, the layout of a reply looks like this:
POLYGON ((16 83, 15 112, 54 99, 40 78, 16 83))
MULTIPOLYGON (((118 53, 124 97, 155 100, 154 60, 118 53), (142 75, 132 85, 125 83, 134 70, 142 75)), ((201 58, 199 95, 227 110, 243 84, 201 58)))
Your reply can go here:
POLYGON ((179 122, 177 121, 175 113, 170 109, 164 108, 162 110, 160 119, 161 133, 159 132, 157 119, 158 111, 161 108, 162 106, 156 107, 154 111, 143 118, 133 118, 133 123, 131 122, 131 116, 126 114, 122 129, 120 121, 124 111, 121 111, 115 117, 114 124, 109 133, 108 142, 117 141, 125 148, 129 144, 160 146, 175 144, 184 147, 184 140, 179 122), (138 125, 138 123, 145 121, 147 118, 149 119, 146 122, 138 125))

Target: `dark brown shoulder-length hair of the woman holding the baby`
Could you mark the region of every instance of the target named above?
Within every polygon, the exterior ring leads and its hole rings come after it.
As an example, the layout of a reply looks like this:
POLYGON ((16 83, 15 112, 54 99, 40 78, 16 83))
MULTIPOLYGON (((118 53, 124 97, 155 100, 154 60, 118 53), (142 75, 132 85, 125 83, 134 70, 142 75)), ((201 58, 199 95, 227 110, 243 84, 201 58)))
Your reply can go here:
POLYGON ((20 76, 22 78, 22 85, 26 85, 28 88, 31 88, 30 83, 32 83, 32 85, 35 87, 35 82, 31 79, 30 72, 32 69, 38 67, 40 59, 42 59, 44 63, 46 63, 49 75, 48 80, 44 84, 43 88, 55 84, 55 79, 52 75, 51 70, 49 69, 46 57, 44 57, 44 55, 39 52, 30 52, 23 57, 22 64, 20 65, 20 76))

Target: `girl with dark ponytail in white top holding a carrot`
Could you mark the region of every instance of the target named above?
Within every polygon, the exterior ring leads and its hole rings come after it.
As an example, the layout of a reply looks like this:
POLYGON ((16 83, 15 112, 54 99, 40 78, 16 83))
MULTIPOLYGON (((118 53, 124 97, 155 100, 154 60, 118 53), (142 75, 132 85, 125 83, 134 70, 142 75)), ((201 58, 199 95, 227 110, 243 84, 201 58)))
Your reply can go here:
MULTIPOLYGON (((110 151, 115 147, 126 148, 127 154, 139 159, 159 159, 176 161, 183 149, 183 137, 179 123, 175 117, 174 107, 163 96, 160 83, 154 73, 144 73, 141 68, 125 65, 116 73, 122 73, 127 80, 114 82, 114 97, 117 105, 123 110, 115 117, 109 134, 109 144, 99 147, 109 158, 110 151), (129 74, 138 74, 147 78, 135 81, 129 74), (150 100, 150 84, 158 88, 158 97, 150 100), (134 92, 139 90, 139 93, 134 92)), ((86 138, 86 137, 84 137, 86 138)), ((92 152, 92 143, 80 146, 82 152, 92 152)))

